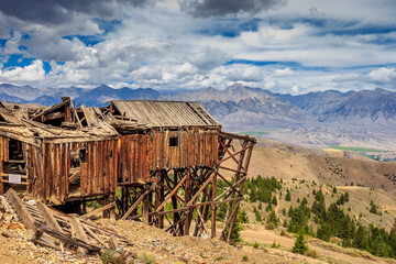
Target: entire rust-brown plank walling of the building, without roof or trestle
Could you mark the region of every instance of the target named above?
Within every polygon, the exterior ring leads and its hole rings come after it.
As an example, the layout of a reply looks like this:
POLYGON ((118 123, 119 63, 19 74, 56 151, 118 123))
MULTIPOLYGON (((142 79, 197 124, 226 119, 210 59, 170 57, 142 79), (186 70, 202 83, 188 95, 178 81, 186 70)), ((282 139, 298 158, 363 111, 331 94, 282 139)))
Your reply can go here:
MULTIPOLYGON (((114 193, 118 184, 155 180, 150 177, 151 170, 213 166, 218 136, 217 130, 190 128, 153 130, 148 135, 122 135, 103 141, 45 142, 41 146, 23 143, 29 190, 42 201, 64 202, 69 195, 70 152, 78 148, 86 152, 81 163, 80 196, 114 193), (176 146, 169 146, 170 138, 177 138, 176 146)), ((0 136, 1 161, 8 161, 8 144, 9 139, 0 136)))

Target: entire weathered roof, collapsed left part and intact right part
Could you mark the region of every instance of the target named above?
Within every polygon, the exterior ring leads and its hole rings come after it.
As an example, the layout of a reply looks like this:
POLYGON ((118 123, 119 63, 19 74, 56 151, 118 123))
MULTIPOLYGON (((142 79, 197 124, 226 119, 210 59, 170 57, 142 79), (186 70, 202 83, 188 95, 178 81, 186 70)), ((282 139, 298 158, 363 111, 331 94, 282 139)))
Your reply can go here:
POLYGON ((186 127, 215 129, 220 123, 199 102, 117 100, 105 108, 77 108, 69 97, 52 107, 0 102, 0 135, 31 144, 37 140, 89 140, 186 127))

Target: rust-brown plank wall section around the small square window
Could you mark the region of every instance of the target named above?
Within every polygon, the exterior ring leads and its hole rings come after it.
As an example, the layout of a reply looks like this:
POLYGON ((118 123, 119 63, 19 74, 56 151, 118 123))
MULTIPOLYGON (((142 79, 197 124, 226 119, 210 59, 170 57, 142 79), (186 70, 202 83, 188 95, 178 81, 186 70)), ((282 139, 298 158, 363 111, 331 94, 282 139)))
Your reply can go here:
POLYGON ((213 166, 218 156, 218 138, 217 130, 199 128, 153 131, 150 142, 150 169, 213 166), (177 146, 169 146, 170 138, 177 138, 177 146))

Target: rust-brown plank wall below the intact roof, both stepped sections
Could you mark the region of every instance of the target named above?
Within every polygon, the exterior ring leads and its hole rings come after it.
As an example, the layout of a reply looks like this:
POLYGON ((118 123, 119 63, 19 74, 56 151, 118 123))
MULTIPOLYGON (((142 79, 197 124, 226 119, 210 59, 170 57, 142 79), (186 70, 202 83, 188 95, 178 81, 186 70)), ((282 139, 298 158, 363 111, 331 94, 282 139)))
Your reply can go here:
POLYGON ((119 184, 150 183, 151 170, 193 166, 213 166, 218 157, 217 130, 193 128, 156 130, 148 135, 121 136, 119 184), (169 146, 169 139, 177 145, 169 146))

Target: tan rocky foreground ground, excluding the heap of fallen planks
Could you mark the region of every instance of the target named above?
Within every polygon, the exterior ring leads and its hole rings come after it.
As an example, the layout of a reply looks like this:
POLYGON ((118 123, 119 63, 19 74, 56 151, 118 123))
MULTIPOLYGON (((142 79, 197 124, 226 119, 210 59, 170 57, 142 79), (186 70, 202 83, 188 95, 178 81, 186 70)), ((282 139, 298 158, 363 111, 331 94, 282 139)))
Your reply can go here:
POLYGON ((100 228, 117 231, 131 241, 130 246, 118 251, 103 249, 99 255, 75 255, 35 245, 30 242, 31 230, 20 223, 12 215, 0 210, 0 260, 8 263, 102 263, 102 258, 113 263, 294 263, 305 256, 273 254, 263 249, 227 244, 218 239, 182 237, 135 221, 111 221, 100 219, 91 221, 100 228))

